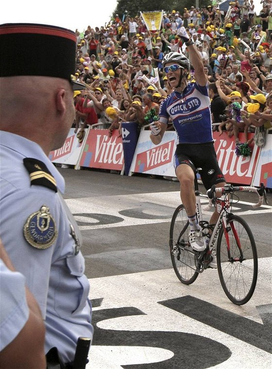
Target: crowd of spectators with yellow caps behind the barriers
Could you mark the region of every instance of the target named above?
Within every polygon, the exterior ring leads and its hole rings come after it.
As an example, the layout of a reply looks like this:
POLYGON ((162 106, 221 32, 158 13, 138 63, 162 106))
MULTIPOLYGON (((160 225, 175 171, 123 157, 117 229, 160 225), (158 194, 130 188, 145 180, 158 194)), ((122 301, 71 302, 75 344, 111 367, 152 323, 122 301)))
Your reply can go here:
MULTIPOLYGON (((164 13, 161 29, 151 32, 142 17, 118 14, 108 25, 77 31, 75 78, 86 84, 75 92, 75 132, 87 125, 120 129, 121 122, 136 121, 139 130, 147 113, 158 113, 170 86, 162 59, 170 51, 187 50, 176 30, 191 34, 204 64, 209 84, 212 122, 220 134, 234 136, 271 128, 272 121, 272 0, 229 3, 228 12, 209 5, 164 13), (233 103, 236 111, 234 110, 233 103)), ((194 68, 188 75, 194 83, 194 68)), ((171 124, 169 124, 169 128, 171 124)))

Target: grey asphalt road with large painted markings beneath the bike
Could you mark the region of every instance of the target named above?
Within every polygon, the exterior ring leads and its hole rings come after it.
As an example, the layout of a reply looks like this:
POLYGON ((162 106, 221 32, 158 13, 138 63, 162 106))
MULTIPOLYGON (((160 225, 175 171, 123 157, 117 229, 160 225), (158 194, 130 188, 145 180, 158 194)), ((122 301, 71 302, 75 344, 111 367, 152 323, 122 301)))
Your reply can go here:
POLYGON ((87 368, 271 368, 272 194, 258 209, 253 193, 239 193, 234 205, 252 229, 259 259, 255 293, 237 306, 225 296, 216 269, 189 286, 174 274, 168 242, 178 182, 60 172, 82 231, 93 303, 87 368))

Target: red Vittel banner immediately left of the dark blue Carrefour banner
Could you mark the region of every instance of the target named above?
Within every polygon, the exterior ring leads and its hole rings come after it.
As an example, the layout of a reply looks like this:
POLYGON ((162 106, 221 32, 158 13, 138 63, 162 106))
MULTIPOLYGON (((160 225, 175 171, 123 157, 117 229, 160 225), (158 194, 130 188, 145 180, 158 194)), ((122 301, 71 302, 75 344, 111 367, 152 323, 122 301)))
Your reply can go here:
POLYGON ((122 170, 123 164, 123 144, 118 130, 114 130, 111 137, 109 131, 105 129, 89 130, 80 166, 122 170))

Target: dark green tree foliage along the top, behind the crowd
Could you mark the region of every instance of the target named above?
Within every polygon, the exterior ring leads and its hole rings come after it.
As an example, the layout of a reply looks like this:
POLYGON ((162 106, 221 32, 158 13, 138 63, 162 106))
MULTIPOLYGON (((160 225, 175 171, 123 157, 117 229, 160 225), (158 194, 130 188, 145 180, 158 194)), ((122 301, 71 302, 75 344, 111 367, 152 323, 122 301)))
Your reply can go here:
MULTIPOLYGON (((172 10, 176 10, 183 13, 183 9, 190 9, 192 5, 195 3, 191 0, 118 0, 117 7, 113 13, 113 17, 115 14, 118 14, 119 17, 128 15, 130 17, 136 17, 141 12, 151 12, 156 10, 164 10, 167 13, 171 13, 172 10)), ((199 0, 199 7, 211 5, 211 0, 199 0)))

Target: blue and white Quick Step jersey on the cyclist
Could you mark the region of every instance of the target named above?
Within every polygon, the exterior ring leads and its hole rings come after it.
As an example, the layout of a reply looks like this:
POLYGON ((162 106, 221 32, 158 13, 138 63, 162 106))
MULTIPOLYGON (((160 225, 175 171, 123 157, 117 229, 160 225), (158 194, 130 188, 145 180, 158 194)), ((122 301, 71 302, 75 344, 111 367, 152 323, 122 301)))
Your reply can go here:
POLYGON ((182 93, 172 92, 160 104, 159 118, 165 124, 172 119, 179 144, 213 141, 207 85, 188 84, 182 93))

